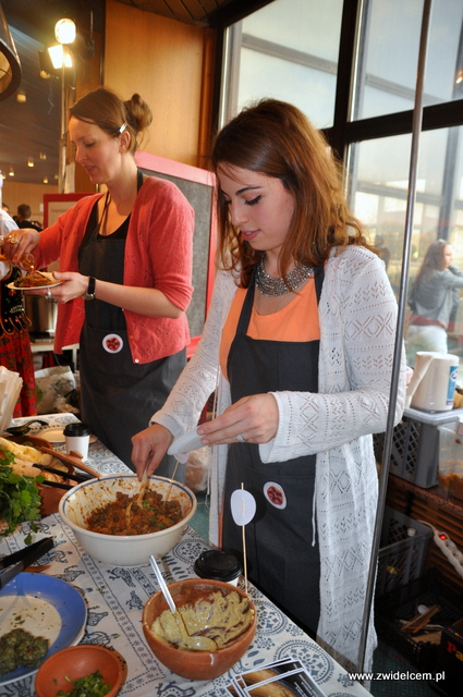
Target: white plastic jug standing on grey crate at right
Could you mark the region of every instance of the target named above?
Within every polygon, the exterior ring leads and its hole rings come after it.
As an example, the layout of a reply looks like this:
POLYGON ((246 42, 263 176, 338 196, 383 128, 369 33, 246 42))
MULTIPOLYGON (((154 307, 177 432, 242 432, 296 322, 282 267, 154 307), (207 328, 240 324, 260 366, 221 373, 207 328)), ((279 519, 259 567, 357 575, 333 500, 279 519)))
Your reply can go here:
POLYGON ((459 356, 435 351, 418 351, 413 378, 407 388, 407 402, 425 412, 453 408, 459 356))

